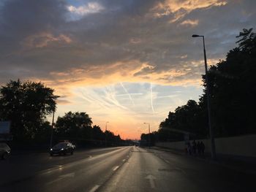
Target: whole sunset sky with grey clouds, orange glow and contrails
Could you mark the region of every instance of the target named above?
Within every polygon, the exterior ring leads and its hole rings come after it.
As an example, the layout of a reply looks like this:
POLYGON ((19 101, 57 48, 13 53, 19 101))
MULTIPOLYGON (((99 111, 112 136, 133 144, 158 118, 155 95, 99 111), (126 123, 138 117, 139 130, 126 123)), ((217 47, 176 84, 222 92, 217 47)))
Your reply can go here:
MULTIPOLYGON (((93 124, 139 139, 169 111, 203 93, 208 64, 225 59, 253 0, 0 0, 0 85, 44 82, 56 117, 86 112, 93 124)), ((50 117, 49 117, 50 118, 50 117)))

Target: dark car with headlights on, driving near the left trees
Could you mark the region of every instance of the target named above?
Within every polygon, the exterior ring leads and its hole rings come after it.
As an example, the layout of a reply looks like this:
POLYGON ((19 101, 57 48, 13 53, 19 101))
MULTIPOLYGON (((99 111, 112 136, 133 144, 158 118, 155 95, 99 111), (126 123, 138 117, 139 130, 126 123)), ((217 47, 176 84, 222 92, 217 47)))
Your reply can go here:
POLYGON ((74 147, 70 142, 59 142, 50 149, 50 155, 66 155, 67 153, 73 155, 74 147))

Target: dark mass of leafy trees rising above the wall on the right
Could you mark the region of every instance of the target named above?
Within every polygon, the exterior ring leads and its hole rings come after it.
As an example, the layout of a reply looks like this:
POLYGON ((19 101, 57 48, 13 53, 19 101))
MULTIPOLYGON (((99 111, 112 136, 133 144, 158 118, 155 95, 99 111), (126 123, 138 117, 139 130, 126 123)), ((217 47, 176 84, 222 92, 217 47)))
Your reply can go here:
MULTIPOLYGON (((225 61, 219 61, 208 71, 211 100, 211 119, 216 137, 256 133, 256 34, 244 29, 238 36, 238 47, 227 53, 225 61)), ((168 136, 165 128, 208 136, 206 76, 203 75, 204 93, 198 104, 189 100, 186 105, 169 112, 159 125, 159 140, 179 139, 168 136)))

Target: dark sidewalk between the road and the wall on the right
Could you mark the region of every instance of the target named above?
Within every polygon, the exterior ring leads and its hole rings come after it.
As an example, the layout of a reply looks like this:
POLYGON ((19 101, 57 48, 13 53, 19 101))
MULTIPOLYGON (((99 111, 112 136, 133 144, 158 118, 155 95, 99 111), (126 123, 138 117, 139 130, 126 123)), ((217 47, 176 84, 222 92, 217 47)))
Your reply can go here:
POLYGON ((189 158, 196 158, 200 161, 207 161, 209 164, 219 164, 225 166, 228 169, 233 169, 238 172, 245 172, 249 174, 256 174, 256 158, 235 156, 235 155, 224 155, 217 153, 217 159, 212 160, 211 154, 206 153, 205 155, 188 155, 183 150, 174 150, 165 147, 151 147, 154 150, 163 150, 165 152, 175 153, 177 155, 186 155, 189 158))

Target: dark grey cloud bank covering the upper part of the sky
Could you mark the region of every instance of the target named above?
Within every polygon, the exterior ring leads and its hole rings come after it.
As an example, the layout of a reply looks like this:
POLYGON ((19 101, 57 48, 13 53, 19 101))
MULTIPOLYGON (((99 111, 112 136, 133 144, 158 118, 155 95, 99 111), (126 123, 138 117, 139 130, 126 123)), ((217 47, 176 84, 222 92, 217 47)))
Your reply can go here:
MULTIPOLYGON (((104 9, 69 20, 72 13, 66 1, 4 1, 0 8, 0 82, 19 77, 58 80, 56 73, 79 80, 75 69, 81 69, 83 77, 101 77, 127 70, 113 65, 128 61, 138 61, 140 68, 148 64, 135 72, 136 77, 176 70, 183 72, 177 80, 193 80, 203 72, 195 66, 203 53, 200 39, 192 39, 192 34, 204 34, 208 58, 217 59, 235 46, 238 31, 256 24, 255 1, 228 1, 189 11, 180 7, 176 12, 157 7, 165 1, 93 2, 104 9), (99 67, 105 72, 91 72, 99 67)), ((160 79, 171 82, 173 77, 165 74, 160 79)))

